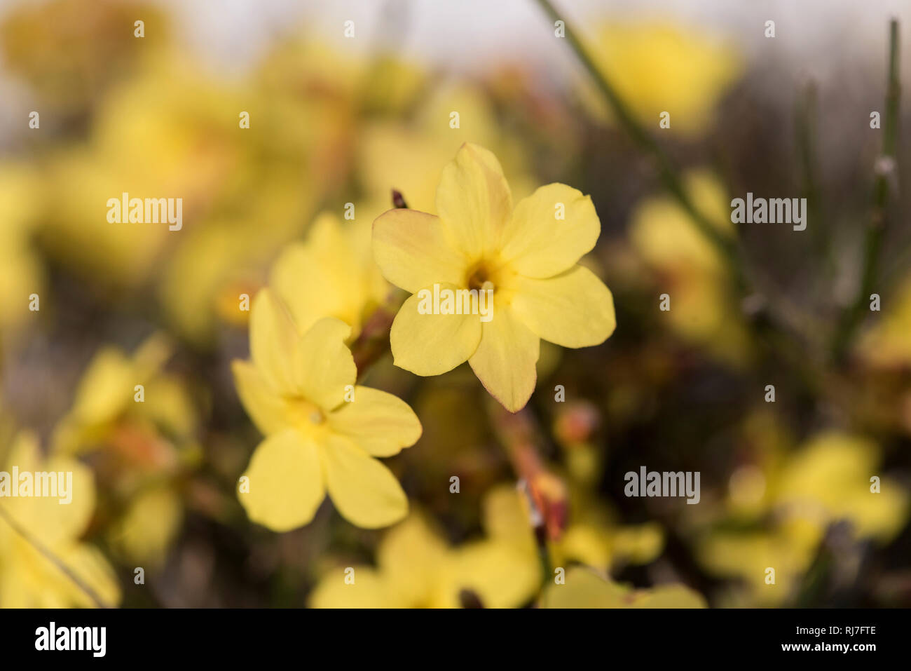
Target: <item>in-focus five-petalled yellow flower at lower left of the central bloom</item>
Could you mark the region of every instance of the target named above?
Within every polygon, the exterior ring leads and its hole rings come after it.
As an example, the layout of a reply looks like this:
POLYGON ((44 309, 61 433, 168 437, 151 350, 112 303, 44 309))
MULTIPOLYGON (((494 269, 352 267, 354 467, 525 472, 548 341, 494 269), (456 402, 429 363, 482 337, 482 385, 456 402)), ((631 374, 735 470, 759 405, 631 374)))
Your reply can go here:
POLYGON ((414 445, 421 424, 399 398, 355 386, 344 345, 351 326, 324 317, 301 334, 270 289, 256 295, 250 322, 252 361, 232 368, 241 401, 266 436, 241 480, 251 520, 277 532, 307 524, 327 490, 357 526, 404 518, 404 491, 374 458, 414 445))

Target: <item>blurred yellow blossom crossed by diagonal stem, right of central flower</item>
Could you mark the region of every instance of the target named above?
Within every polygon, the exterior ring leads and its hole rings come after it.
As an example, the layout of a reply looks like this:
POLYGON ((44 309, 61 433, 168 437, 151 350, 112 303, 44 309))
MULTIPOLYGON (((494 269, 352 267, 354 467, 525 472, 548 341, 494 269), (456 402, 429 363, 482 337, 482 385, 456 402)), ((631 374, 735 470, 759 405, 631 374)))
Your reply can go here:
MULTIPOLYGON (((727 200, 709 173, 685 177, 697 209, 724 236, 733 235, 727 200)), ((630 215, 630 242, 659 275, 661 293, 670 295, 662 312, 681 337, 729 364, 749 361, 748 333, 730 291, 731 276, 722 256, 690 215, 669 196, 643 201, 630 215)))

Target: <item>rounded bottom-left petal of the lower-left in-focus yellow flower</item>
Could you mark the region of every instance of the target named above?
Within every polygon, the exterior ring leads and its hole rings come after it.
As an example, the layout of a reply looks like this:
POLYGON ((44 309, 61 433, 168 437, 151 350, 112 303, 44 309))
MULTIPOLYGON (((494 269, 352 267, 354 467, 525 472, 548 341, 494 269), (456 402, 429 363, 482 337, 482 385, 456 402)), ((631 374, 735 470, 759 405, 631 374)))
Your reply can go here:
POLYGON ((325 497, 318 449, 292 429, 260 443, 244 472, 250 490, 238 493, 252 521, 287 532, 313 519, 325 497))

